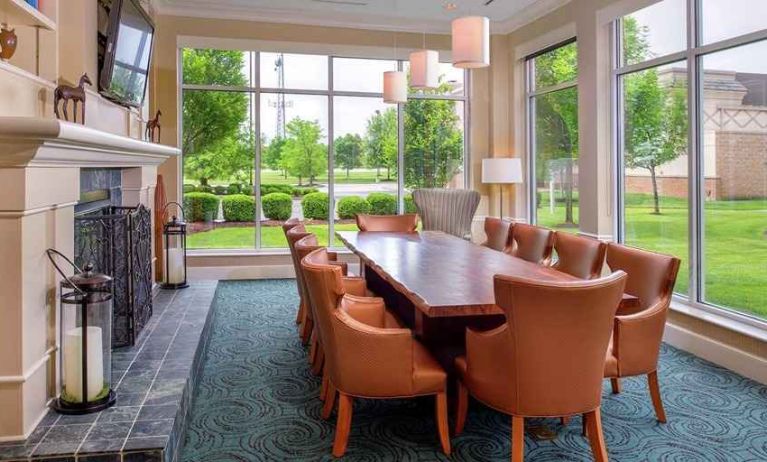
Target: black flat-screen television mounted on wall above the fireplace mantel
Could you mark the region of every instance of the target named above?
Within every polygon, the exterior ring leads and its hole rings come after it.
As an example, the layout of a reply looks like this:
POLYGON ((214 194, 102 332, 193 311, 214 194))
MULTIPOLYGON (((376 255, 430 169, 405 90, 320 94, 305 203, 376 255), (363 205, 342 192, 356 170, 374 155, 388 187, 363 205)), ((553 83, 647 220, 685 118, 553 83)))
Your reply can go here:
POLYGON ((99 3, 106 22, 99 47, 103 47, 99 91, 119 104, 140 107, 149 80, 154 23, 138 0, 99 3))

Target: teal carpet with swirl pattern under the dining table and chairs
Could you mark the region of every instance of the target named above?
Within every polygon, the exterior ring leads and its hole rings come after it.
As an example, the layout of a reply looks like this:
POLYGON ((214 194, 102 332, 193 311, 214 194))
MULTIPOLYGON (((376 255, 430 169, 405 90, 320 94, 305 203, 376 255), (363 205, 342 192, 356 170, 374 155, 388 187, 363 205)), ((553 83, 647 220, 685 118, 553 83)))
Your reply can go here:
MULTIPOLYGON (((320 380, 309 371, 294 323, 295 281, 226 281, 214 302, 213 331, 195 392, 181 460, 333 460, 335 418, 320 417, 320 380)), ((615 461, 767 460, 767 387, 664 345, 660 383, 667 424, 655 420, 646 380, 606 381, 602 416, 615 461)), ((525 460, 590 461, 580 418, 528 433, 525 460)), ((434 400, 355 400, 345 460, 509 460, 510 418, 476 402, 453 455, 439 450, 434 400)))

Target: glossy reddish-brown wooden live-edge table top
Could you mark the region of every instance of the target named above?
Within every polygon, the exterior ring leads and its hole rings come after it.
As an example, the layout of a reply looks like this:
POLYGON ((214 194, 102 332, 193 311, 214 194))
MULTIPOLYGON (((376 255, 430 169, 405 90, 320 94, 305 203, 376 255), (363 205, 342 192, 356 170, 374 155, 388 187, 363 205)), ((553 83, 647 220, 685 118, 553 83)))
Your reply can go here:
POLYGON ((496 274, 551 282, 576 280, 555 269, 437 231, 336 234, 368 270, 375 271, 428 317, 502 314, 493 292, 496 274))

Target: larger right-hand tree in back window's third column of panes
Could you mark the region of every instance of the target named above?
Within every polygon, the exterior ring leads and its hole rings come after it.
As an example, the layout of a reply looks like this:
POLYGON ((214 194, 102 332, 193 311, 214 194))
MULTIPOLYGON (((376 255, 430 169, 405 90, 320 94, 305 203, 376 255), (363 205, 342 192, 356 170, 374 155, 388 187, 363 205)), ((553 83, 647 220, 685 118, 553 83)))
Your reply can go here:
POLYGON ((376 111, 365 134, 365 161, 376 169, 376 178, 380 178, 381 168, 386 168, 386 179, 391 180, 391 170, 397 168, 397 148, 397 109, 376 111))

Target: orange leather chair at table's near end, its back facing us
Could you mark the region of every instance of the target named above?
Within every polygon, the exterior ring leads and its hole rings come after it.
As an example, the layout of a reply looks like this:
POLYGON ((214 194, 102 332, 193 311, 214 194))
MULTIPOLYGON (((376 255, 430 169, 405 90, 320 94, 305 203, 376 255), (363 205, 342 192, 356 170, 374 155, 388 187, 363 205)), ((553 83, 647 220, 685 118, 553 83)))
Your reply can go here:
POLYGON ((607 460, 599 410, 603 352, 626 274, 559 283, 496 275, 494 282, 506 323, 489 332, 466 331, 466 356, 456 359, 456 434, 463 431, 471 393, 512 416, 512 461, 524 459, 526 417, 576 414, 587 422, 595 459, 607 460))

